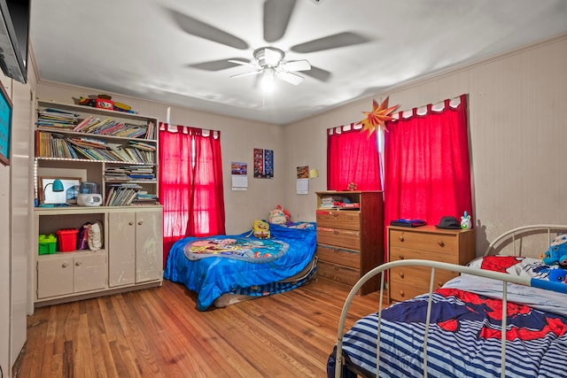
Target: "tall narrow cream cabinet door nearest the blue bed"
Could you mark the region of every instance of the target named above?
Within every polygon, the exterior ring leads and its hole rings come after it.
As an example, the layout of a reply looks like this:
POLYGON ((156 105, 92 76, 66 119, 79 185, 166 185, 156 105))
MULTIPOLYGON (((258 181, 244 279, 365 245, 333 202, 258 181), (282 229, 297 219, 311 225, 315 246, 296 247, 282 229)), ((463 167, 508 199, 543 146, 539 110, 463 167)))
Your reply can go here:
POLYGON ((159 280, 163 266, 161 209, 136 212, 136 282, 159 280))

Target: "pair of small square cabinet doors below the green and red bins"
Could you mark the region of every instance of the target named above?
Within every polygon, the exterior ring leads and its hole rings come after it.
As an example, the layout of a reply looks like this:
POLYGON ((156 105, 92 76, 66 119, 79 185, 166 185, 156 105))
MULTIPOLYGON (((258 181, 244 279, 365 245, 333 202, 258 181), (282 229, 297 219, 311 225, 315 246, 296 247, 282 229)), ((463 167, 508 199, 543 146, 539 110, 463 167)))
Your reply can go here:
POLYGON ((37 261, 37 298, 106 289, 105 251, 64 252, 37 261))

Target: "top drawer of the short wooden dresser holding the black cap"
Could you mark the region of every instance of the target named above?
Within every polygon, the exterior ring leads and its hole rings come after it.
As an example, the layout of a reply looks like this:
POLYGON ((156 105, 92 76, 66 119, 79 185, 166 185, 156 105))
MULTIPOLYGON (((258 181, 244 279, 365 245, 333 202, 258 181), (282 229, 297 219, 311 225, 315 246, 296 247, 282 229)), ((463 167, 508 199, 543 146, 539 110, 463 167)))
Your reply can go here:
POLYGON ((420 251, 453 251, 458 248, 458 240, 453 234, 434 234, 390 230, 390 247, 412 248, 420 251))

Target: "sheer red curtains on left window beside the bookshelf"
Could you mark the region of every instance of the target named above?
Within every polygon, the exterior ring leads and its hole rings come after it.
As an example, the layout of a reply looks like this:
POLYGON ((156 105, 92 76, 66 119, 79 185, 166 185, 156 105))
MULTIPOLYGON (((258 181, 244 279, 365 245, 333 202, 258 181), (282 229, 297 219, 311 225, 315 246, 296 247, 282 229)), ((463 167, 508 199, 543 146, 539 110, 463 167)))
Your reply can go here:
POLYGON ((221 132, 159 123, 164 266, 185 236, 224 235, 221 132))

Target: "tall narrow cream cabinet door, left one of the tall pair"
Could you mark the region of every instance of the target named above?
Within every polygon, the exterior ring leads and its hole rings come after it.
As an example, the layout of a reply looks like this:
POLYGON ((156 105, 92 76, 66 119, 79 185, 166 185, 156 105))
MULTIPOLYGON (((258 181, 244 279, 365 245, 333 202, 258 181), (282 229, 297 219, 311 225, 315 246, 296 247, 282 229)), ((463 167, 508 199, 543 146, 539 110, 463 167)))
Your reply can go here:
POLYGON ((136 282, 136 212, 108 214, 108 286, 136 282))

